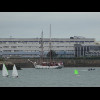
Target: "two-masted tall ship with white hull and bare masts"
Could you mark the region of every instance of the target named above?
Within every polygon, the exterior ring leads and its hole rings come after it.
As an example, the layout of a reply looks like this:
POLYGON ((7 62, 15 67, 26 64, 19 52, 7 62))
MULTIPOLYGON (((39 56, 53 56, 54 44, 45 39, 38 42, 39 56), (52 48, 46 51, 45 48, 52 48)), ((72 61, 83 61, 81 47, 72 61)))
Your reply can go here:
POLYGON ((50 59, 49 62, 44 62, 43 61, 43 31, 41 33, 41 52, 40 52, 40 64, 37 64, 36 62, 34 62, 34 67, 37 69, 40 68, 44 68, 44 69, 60 69, 62 67, 64 67, 63 62, 55 62, 52 60, 51 57, 51 52, 52 52, 52 48, 51 48, 51 24, 50 24, 50 41, 49 41, 49 49, 50 49, 50 59))

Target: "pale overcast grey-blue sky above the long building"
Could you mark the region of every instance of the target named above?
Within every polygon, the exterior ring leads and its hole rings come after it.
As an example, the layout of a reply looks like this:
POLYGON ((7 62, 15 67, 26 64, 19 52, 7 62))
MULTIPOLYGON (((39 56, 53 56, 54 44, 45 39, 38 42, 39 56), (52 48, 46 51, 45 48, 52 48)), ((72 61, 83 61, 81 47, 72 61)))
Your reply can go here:
POLYGON ((0 38, 69 38, 100 41, 100 12, 0 12, 0 38))

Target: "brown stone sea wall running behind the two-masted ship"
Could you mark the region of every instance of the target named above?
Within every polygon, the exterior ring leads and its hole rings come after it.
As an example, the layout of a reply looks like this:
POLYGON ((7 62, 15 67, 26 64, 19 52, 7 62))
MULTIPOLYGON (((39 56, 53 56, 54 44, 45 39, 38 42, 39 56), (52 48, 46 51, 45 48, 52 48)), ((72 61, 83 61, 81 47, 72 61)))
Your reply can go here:
MULTIPOLYGON (((39 63, 40 59, 32 58, 32 62, 39 63)), ((6 62, 16 64, 18 68, 34 68, 33 64, 28 59, 17 58, 17 59, 6 59, 6 62)), ((48 62, 49 59, 43 61, 48 62)), ((65 67, 100 67, 100 59, 54 59, 56 62, 63 62, 65 67)))

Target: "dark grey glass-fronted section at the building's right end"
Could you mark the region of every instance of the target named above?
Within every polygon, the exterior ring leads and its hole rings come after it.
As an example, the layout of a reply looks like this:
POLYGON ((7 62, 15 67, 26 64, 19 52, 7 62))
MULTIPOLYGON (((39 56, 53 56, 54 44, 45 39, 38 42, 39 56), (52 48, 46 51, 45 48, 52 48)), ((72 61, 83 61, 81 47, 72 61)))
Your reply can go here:
POLYGON ((100 57, 100 45, 75 44, 75 57, 100 57))

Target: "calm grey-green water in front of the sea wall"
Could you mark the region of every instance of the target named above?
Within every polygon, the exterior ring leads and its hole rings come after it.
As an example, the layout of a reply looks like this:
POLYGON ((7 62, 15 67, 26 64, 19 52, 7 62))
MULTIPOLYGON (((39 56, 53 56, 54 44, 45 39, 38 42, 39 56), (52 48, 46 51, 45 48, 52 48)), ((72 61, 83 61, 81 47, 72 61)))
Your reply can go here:
POLYGON ((100 68, 88 71, 86 68, 34 69, 18 70, 19 78, 2 77, 0 71, 0 87, 100 87, 100 68), (74 70, 79 75, 74 75, 74 70))

